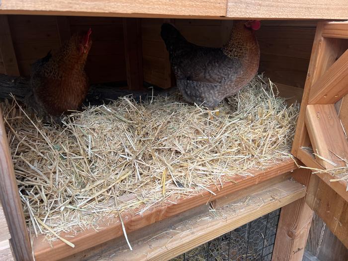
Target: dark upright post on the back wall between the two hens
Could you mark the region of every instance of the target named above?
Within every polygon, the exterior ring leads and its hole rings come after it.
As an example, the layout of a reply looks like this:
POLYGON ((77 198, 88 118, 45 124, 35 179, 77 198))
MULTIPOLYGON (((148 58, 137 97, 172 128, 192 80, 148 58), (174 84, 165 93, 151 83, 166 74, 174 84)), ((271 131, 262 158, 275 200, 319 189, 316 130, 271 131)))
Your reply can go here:
POLYGON ((123 18, 123 37, 128 88, 131 90, 141 90, 144 88, 144 78, 141 24, 139 18, 123 18))

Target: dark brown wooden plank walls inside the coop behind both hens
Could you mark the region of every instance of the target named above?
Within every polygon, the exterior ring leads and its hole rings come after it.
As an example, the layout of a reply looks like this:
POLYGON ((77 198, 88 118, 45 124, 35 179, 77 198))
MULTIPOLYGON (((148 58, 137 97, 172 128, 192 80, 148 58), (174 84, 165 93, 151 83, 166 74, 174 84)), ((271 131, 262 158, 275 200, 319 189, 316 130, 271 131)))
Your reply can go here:
MULTIPOLYGON (((144 81, 159 87, 174 84, 168 52, 161 39, 163 22, 173 23, 188 41, 221 47, 229 39, 232 20, 141 19, 144 81)), ((122 18, 8 15, 13 46, 22 76, 30 64, 56 50, 72 33, 92 28, 93 45, 86 71, 92 83, 126 81, 122 18)), ((316 21, 262 21, 257 32, 260 72, 275 83, 303 88, 316 21)), ((0 73, 3 72, 0 55, 0 73)))

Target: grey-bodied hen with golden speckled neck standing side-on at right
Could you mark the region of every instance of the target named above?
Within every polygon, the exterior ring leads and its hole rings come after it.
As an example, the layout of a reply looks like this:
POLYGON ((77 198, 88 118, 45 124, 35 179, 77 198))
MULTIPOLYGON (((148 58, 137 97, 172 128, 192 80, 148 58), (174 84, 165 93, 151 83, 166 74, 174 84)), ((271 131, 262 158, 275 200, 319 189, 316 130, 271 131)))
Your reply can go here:
POLYGON ((214 108, 246 86, 259 68, 259 28, 258 20, 235 21, 228 43, 209 48, 189 43, 173 25, 163 24, 161 36, 184 99, 214 108))

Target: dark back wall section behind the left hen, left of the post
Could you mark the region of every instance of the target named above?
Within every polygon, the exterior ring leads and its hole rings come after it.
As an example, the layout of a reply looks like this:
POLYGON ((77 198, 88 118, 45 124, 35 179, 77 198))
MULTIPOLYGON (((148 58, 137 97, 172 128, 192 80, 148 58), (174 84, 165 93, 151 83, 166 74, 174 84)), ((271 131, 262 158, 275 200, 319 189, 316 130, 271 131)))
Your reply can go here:
POLYGON ((126 80, 121 18, 8 15, 8 22, 22 76, 30 75, 30 65, 35 60, 58 49, 65 40, 61 38, 91 27, 93 44, 86 64, 90 82, 126 80), (64 18, 66 22, 60 22, 64 18))

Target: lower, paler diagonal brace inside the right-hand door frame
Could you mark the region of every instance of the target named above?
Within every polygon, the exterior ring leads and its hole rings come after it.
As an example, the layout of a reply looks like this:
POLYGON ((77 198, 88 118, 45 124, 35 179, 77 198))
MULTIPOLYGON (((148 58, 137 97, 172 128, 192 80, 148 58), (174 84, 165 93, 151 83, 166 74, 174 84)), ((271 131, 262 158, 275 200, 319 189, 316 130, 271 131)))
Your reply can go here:
POLYGON ((342 159, 348 159, 348 142, 335 105, 307 105, 305 122, 314 153, 336 165, 316 156, 317 162, 325 169, 346 166, 342 159))

